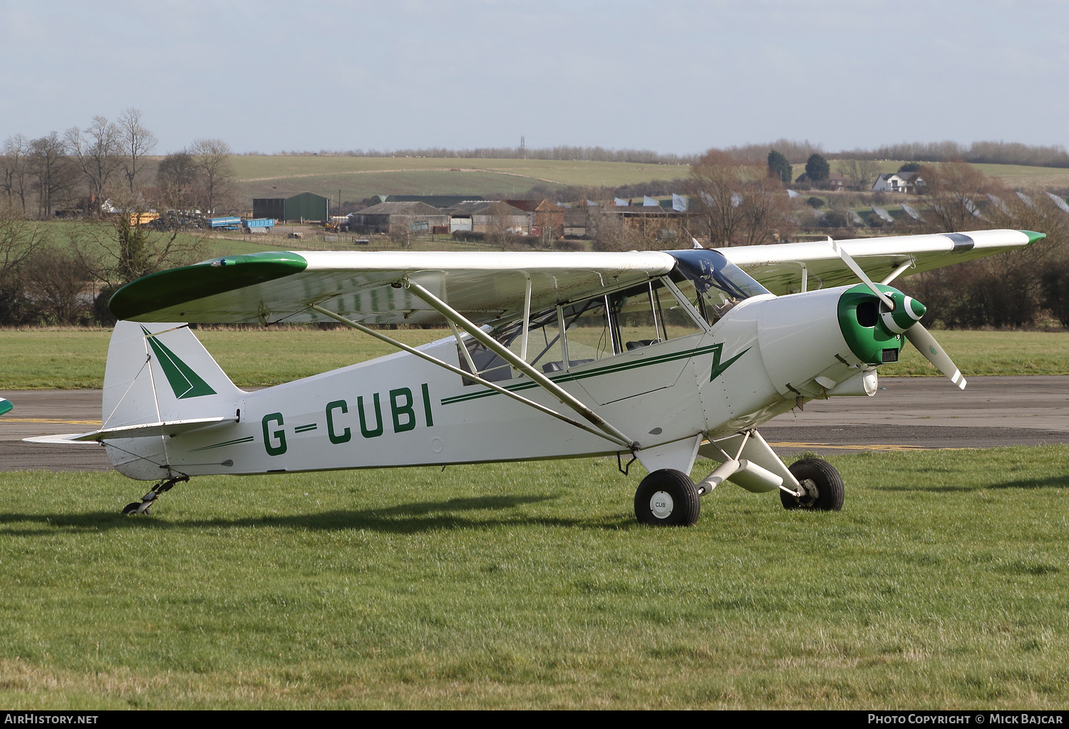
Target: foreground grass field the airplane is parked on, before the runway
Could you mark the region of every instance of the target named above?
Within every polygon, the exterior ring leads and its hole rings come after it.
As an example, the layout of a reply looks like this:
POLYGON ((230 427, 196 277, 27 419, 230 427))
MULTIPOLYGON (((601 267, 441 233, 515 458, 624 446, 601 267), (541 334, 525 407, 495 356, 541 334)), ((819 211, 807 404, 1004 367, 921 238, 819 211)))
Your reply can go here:
POLYGON ((615 460, 204 477, 139 518, 115 474, 2 473, 0 704, 1064 709, 1069 447, 830 459, 842 512, 726 485, 690 529, 637 526, 615 460))

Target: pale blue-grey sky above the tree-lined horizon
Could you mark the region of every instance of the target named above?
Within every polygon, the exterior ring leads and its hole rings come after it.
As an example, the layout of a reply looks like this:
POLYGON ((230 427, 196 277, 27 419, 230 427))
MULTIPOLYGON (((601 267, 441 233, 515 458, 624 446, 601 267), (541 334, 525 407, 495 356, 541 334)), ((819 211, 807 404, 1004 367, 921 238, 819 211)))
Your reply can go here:
POLYGON ((0 141, 157 153, 1066 145, 1064 0, 0 0, 0 141))

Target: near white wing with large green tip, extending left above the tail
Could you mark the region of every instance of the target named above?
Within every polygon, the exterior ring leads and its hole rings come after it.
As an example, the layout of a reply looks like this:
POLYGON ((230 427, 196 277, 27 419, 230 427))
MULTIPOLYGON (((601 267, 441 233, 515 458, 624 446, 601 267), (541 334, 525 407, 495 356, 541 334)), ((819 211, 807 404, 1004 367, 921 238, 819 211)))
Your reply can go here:
POLYGON ((108 306, 130 321, 444 323, 409 280, 477 323, 523 316, 669 273, 665 253, 272 252, 223 256, 127 284, 108 306))

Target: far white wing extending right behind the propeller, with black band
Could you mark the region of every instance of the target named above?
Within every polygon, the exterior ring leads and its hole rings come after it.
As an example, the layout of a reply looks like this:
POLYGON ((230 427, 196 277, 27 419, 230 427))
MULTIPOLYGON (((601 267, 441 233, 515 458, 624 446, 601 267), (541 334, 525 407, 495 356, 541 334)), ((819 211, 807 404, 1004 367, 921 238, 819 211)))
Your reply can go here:
MULTIPOLYGON (((888 236, 837 241, 877 282, 1020 248, 1045 238, 1031 230, 974 230, 963 233, 888 236), (896 274, 896 271, 902 271, 896 274), (894 274, 894 276, 893 276, 894 274)), ((724 256, 775 294, 857 283, 826 242, 719 248, 724 256)))

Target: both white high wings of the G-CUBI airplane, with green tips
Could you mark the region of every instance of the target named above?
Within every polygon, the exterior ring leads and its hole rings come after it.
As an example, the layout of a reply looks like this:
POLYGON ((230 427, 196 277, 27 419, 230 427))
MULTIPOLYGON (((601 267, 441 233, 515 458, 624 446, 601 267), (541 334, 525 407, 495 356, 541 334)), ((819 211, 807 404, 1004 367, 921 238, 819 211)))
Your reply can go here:
MULTIPOLYGON (((1011 250, 1041 238, 1043 233, 1026 230, 979 230, 838 243, 879 282, 1011 250)), ((808 289, 857 280, 826 242, 719 250, 776 294, 801 290, 803 277, 808 289)), ((639 284, 675 267, 672 256, 653 250, 257 253, 143 276, 117 291, 109 308, 130 321, 330 321, 325 309, 362 324, 445 323, 446 317, 427 297, 409 290, 407 284, 413 283, 482 324, 639 284)))

